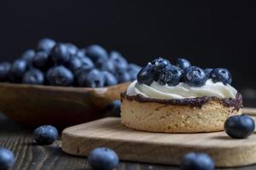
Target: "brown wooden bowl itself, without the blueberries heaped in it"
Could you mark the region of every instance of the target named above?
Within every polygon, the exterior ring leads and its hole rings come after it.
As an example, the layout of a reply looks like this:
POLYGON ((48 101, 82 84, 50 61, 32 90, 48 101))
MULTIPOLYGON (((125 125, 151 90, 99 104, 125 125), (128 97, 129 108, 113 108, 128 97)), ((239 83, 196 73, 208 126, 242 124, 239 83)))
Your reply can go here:
POLYGON ((0 111, 29 127, 67 127, 104 116, 130 82, 108 88, 66 88, 0 83, 0 111))

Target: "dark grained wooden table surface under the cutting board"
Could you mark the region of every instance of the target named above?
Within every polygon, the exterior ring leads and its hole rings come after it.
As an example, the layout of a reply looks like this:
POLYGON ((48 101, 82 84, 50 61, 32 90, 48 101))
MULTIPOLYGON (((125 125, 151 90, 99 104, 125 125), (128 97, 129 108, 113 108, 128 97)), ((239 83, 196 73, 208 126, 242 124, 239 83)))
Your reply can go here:
MULTIPOLYGON (((49 146, 40 146, 32 142, 32 130, 20 127, 14 122, 0 116, 0 146, 13 150, 16 156, 15 167, 12 169, 55 169, 82 170, 90 169, 84 157, 69 156, 61 150, 61 140, 49 146)), ((118 169, 123 170, 169 170, 179 169, 175 166, 154 165, 137 162, 121 161, 118 169)), ((249 167, 229 168, 236 170, 256 169, 249 167)))

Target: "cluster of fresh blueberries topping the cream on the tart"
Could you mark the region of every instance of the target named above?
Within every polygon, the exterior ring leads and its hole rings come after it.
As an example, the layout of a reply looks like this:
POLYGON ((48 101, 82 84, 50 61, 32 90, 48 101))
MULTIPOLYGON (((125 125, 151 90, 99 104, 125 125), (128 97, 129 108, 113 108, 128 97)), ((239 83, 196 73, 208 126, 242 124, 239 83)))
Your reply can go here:
POLYGON ((137 74, 137 82, 147 85, 154 81, 169 86, 176 86, 178 82, 185 82, 189 86, 201 87, 206 84, 207 79, 224 84, 232 82, 230 71, 227 69, 201 69, 191 65, 187 59, 180 58, 177 59, 176 65, 172 65, 167 59, 154 59, 137 74))

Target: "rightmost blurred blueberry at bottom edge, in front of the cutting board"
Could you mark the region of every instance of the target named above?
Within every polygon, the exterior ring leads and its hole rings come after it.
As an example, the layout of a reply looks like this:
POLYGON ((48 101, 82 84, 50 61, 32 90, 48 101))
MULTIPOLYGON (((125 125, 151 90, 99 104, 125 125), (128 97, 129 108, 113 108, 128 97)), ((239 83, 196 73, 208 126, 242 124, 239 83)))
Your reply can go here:
POLYGON ((182 170, 213 170, 212 158, 205 153, 190 152, 181 161, 182 170))

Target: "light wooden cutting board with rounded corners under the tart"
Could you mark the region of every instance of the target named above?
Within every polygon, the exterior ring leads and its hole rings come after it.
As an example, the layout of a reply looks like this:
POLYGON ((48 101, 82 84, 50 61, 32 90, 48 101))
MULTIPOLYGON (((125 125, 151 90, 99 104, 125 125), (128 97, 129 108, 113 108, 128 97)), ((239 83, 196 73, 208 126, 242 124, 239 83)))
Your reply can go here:
POLYGON ((190 151, 207 152, 217 167, 256 163, 256 135, 230 139, 218 133, 147 133, 124 127, 119 118, 104 118, 62 132, 62 150, 88 156, 90 150, 107 146, 121 160, 177 165, 190 151))

